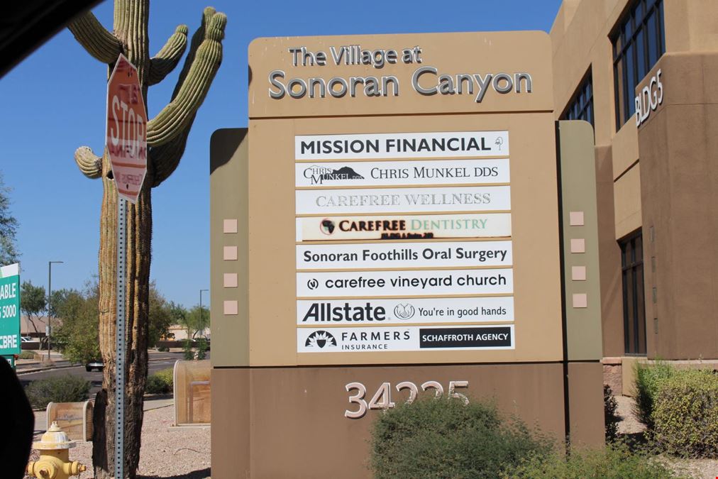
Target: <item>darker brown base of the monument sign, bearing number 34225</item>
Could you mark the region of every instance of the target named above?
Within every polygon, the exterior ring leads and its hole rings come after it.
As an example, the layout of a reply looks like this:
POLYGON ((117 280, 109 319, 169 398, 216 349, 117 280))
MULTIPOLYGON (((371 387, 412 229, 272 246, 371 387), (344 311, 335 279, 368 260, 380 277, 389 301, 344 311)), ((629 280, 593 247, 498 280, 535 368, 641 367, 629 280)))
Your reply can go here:
MULTIPOLYGON (((572 442, 602 444, 604 437, 602 366, 569 363, 569 424, 572 442)), ((352 366, 214 368, 212 371, 212 473, 218 478, 368 478, 369 429, 381 411, 368 409, 348 419, 348 383, 365 386, 369 402, 382 383, 391 399, 409 391, 396 385, 437 381, 448 393, 450 381, 468 381, 457 392, 493 398, 507 414, 561 439, 564 418, 564 365, 511 363, 440 366, 352 366)))

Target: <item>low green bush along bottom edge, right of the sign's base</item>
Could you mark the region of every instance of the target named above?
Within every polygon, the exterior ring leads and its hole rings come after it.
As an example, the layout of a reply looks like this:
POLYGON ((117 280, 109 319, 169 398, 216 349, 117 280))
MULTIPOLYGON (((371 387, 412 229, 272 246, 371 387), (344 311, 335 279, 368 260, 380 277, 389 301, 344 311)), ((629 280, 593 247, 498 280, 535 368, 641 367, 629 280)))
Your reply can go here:
POLYGON ((656 458, 632 453, 623 444, 564 454, 533 455, 504 478, 510 479, 663 479, 681 477, 656 458))

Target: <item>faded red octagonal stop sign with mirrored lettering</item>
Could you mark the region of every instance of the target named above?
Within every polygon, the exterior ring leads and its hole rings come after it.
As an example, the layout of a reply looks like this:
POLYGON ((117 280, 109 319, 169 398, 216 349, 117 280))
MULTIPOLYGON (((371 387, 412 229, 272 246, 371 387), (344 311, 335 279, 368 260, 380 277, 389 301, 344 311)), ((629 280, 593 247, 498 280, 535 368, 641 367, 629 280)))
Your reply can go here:
POLYGON ((137 69, 120 54, 107 83, 106 147, 118 195, 137 203, 147 172, 147 111, 137 69))

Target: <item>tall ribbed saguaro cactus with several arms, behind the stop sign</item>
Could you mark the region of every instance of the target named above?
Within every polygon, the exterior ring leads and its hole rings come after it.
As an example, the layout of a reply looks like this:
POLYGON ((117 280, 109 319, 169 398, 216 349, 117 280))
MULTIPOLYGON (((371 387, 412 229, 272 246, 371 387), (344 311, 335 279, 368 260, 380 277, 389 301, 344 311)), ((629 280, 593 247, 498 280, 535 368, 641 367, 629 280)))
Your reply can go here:
MULTIPOLYGON (((149 57, 147 22, 149 0, 115 0, 114 32, 108 32, 90 12, 70 25, 80 45, 108 64, 111 73, 123 53, 139 73, 142 93, 162 81, 180 62, 187 47, 187 26, 175 29, 157 55, 149 57)), ((128 204, 126 246, 127 366, 125 412, 125 471, 134 478, 139 464, 142 405, 147 378, 149 321, 149 265, 151 256, 151 189, 180 163, 197 108, 210 88, 222 60, 222 39, 227 17, 208 7, 202 25, 192 36, 190 52, 172 93, 172 101, 147 122, 147 175, 136 205, 128 204)), ((98 118, 99 121, 99 118, 98 118)), ((75 152, 75 162, 88 178, 101 178, 103 199, 100 218, 100 350, 105 362, 102 391, 95 401, 93 465, 95 478, 113 476, 114 377, 117 258, 117 192, 107 149, 99 157, 88 147, 75 152)))

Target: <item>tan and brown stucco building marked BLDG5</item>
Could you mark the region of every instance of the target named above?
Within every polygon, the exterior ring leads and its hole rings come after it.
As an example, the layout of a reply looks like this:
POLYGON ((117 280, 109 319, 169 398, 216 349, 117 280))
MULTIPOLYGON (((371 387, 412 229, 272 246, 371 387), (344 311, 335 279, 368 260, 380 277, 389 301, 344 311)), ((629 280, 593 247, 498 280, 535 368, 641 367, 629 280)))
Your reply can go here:
POLYGON ((566 0, 551 41, 556 119, 595 127, 605 370, 718 358, 718 2, 566 0))

